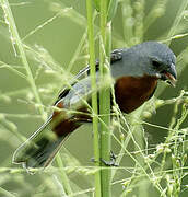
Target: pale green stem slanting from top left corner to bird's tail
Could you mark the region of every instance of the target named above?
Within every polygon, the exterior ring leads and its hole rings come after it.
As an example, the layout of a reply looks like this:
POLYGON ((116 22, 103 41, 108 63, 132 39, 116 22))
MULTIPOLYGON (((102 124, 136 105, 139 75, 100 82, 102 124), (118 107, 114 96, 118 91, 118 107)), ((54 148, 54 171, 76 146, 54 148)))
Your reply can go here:
POLYGON ((25 50, 24 50, 22 40, 20 38, 16 25, 15 25, 13 14, 12 14, 11 8, 9 5, 9 1, 8 0, 1 0, 1 4, 2 4, 2 9, 4 11, 5 21, 8 22, 10 32, 12 34, 13 44, 14 43, 16 44, 17 50, 19 50, 19 56, 21 57, 22 63, 25 67, 26 74, 27 74, 26 79, 27 79, 27 81, 32 88, 32 91, 35 95, 36 102, 40 105, 39 113, 42 114, 43 119, 46 119, 46 113, 44 112, 44 108, 42 107, 43 103, 42 103, 42 100, 39 97, 32 70, 31 70, 30 65, 27 62, 25 50))

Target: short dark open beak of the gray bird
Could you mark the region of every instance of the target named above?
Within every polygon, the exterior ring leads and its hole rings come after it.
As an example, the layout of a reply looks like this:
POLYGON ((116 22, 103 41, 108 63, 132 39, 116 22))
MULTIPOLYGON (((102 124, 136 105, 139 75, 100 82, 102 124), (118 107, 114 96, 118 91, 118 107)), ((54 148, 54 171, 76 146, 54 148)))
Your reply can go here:
POLYGON ((163 72, 162 79, 167 81, 171 85, 176 86, 177 72, 174 63, 163 72))

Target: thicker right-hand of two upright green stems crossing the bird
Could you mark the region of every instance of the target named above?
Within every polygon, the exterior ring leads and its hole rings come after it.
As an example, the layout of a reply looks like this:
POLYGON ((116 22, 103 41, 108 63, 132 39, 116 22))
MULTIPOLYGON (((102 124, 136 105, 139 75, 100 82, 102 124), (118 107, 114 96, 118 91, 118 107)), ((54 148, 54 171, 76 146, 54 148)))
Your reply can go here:
MULTIPOLYGON (((110 53, 110 22, 107 25, 107 1, 101 1, 101 44, 99 44, 99 79, 104 79, 109 76, 109 53, 110 53), (108 58, 107 58, 108 57, 108 58), (108 63, 106 63, 106 60, 108 63)), ((101 124, 101 157, 105 161, 110 160, 111 149, 111 134, 109 131, 110 124, 110 88, 107 86, 99 92, 99 114, 102 115, 101 124)), ((102 196, 110 197, 110 167, 103 169, 101 173, 102 179, 102 196)))

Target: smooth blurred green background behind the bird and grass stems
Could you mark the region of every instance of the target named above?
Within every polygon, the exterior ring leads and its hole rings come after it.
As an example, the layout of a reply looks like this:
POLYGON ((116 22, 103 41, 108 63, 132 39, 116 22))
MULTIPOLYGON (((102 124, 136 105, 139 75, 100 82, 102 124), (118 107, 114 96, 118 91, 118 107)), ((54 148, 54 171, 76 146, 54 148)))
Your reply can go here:
MULTIPOLYGON (((27 60, 36 78, 35 81, 45 105, 45 112, 50 113, 48 106, 54 103, 58 92, 66 83, 66 79, 62 79, 63 70, 71 71, 74 74, 87 63, 87 43, 84 37, 86 30, 85 1, 10 0, 9 2, 20 37, 27 47, 33 49, 25 48, 27 60), (82 42, 81 51, 77 55, 78 47, 82 42), (74 58, 75 61, 73 61, 74 58), (72 69, 70 69, 71 65, 72 69), (59 73, 56 67, 61 68, 59 73)), ((166 40, 169 38, 167 37, 168 32, 177 14, 179 14, 181 2, 180 0, 121 0, 113 20, 113 48, 129 47, 143 40, 166 40), (137 3, 142 4, 143 2, 144 7, 139 10, 137 3), (148 14, 157 3, 160 4, 157 5, 158 10, 156 9, 156 13, 152 13, 153 19, 148 18, 148 14), (131 7, 127 7, 127 4, 131 7), (158 14, 158 18, 154 16, 155 14, 158 14), (133 31, 127 31, 127 26, 132 26, 133 31)), ((183 14, 175 35, 188 33, 188 14, 186 11, 183 14)), ((43 123, 30 84, 10 68, 14 67, 25 73, 17 48, 13 43, 9 25, 4 20, 4 12, 0 9, 0 197, 11 195, 19 197, 63 196, 60 173, 55 169, 32 176, 22 171, 21 166, 12 164, 12 154, 22 142, 17 132, 28 137, 43 123), (4 65, 9 65, 9 67, 4 65), (20 169, 11 171, 13 167, 20 169)), ((163 100, 177 97, 180 90, 187 91, 188 84, 188 36, 173 39, 169 47, 176 56, 181 56, 177 62, 178 82, 176 89, 164 83, 158 85, 155 95, 163 100), (187 53, 181 54, 186 48, 187 53)), ((165 105, 158 108, 156 114, 152 114, 152 117, 146 121, 168 127, 173 108, 173 104, 165 105)), ((179 116, 177 114, 177 118, 179 116)), ((187 128, 187 125, 188 121, 186 120, 181 128, 187 128)), ((149 135, 151 147, 164 141, 167 135, 166 130, 156 127, 144 126, 144 129, 149 135)), ((114 151, 117 152, 119 148, 116 148, 115 144, 114 151)), ((77 166, 93 165, 90 161, 93 157, 91 127, 83 126, 80 128, 66 141, 64 147, 61 149, 61 155, 66 165, 72 166, 72 170, 69 169, 67 172, 73 190, 92 188, 93 176, 77 169, 77 166)), ((128 157, 124 159, 120 166, 131 166, 131 160, 129 160, 128 157)), ((120 171, 117 173, 116 181, 128 176, 129 173, 120 171)), ((188 185, 186 176, 183 179, 183 185, 188 185)), ((121 184, 117 183, 113 186, 114 196, 120 196, 122 190, 121 184)), ((145 190, 148 196, 158 196, 157 192, 149 185, 145 186, 145 190)), ((145 192, 142 194, 136 189, 133 194, 134 196, 146 197, 145 192)), ((188 190, 185 187, 180 196, 186 197, 187 195, 188 190)), ((89 189, 89 193, 85 190, 83 194, 75 194, 75 196, 92 196, 92 193, 89 189)))

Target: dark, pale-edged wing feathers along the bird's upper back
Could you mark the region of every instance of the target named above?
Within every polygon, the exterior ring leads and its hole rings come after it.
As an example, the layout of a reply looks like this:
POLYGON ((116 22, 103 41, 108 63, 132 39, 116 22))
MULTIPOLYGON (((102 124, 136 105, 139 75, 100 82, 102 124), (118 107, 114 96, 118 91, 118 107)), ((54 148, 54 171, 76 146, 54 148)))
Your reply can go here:
MULTIPOLYGON (((122 48, 120 49, 115 49, 111 51, 110 54, 110 63, 113 65, 116 61, 119 61, 120 59, 122 59, 122 48)), ((99 70, 99 60, 96 60, 96 71, 99 70)), ((90 74, 90 66, 86 66, 85 68, 83 68, 82 70, 80 70, 80 72, 75 76, 73 82, 70 85, 74 85, 78 81, 80 81, 81 79, 84 79, 85 77, 87 77, 90 74)), ((58 96, 58 100, 56 101, 55 105, 61 100, 63 99, 69 91, 71 90, 71 88, 66 86, 61 93, 58 96)))

